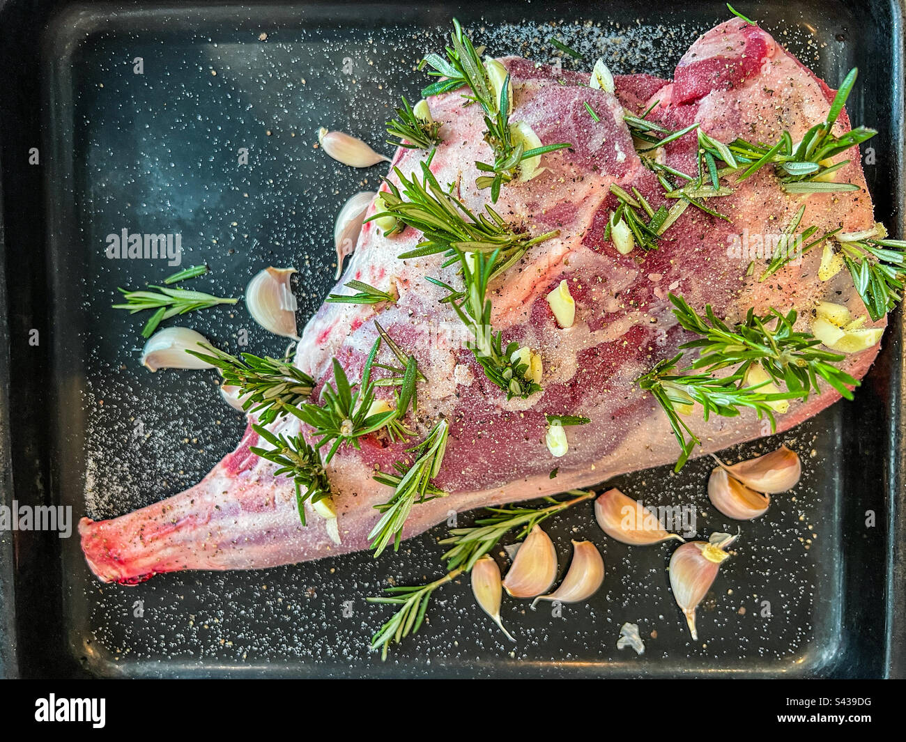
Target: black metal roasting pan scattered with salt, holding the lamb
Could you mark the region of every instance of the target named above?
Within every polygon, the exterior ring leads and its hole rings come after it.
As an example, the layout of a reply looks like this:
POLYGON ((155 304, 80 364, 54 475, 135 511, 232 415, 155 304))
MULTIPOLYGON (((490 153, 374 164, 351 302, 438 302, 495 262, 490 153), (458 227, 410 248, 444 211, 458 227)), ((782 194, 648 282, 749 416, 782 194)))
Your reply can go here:
MULTIPOLYGON (((831 85, 860 68, 849 110, 879 130, 865 174, 877 217, 902 236, 902 5, 743 5, 831 85)), ((418 97, 424 79, 412 67, 441 46, 453 15, 497 54, 546 60, 551 35, 593 38, 602 52, 621 50, 615 72, 669 76, 727 11, 717 2, 634 0, 0 3, 6 505, 116 516, 197 481, 233 447, 244 420, 220 404, 209 373, 140 368, 140 325, 111 300, 118 285, 154 283, 167 269, 111 264, 104 236, 180 233, 184 265, 213 269, 198 287, 222 295, 241 294, 257 267, 295 265, 304 321, 332 284, 333 215, 364 179, 373 187, 381 175, 315 156, 313 132, 335 126, 381 142, 374 122, 388 118, 400 93, 418 97), (134 72, 137 57, 143 74, 134 72), (33 147, 38 164, 29 163, 33 147), (242 147, 252 167, 236 164, 242 147)), ((193 325, 224 347, 245 329, 256 352, 282 350, 241 304, 198 313, 193 325)), ((561 615, 506 603, 512 644, 460 579, 436 593, 429 624, 386 662, 368 645, 389 611, 365 598, 389 579, 439 575, 446 525, 380 560, 173 573, 131 588, 96 582, 75 537, 0 533, 0 674, 902 677, 902 339, 897 312, 854 403, 730 454, 782 439, 806 474, 793 496, 776 496, 768 516, 745 525, 699 610, 698 644, 670 595, 670 549, 630 554, 605 539, 588 505, 549 525, 562 558, 575 534, 602 547, 608 575, 591 602, 561 615), (639 623, 641 657, 616 649, 623 622, 639 623)), ((708 470, 701 460, 679 476, 660 468, 614 484, 651 502, 699 506, 699 535, 707 534, 730 525, 706 507, 708 470)))

